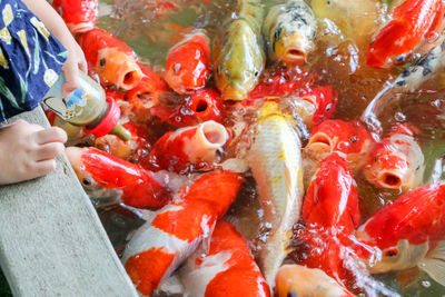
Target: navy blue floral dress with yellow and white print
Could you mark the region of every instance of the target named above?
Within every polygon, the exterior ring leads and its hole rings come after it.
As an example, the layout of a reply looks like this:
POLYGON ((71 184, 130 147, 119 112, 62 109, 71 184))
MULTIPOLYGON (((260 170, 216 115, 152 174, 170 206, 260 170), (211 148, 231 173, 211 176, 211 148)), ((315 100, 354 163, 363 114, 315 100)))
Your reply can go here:
POLYGON ((36 108, 68 52, 20 0, 0 0, 0 122, 36 108))

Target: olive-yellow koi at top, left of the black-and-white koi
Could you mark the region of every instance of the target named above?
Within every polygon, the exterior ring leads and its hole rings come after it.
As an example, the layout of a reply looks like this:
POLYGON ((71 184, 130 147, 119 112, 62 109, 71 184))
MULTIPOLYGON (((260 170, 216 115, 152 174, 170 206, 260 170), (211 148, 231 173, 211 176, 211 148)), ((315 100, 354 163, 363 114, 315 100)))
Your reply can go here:
POLYGON ((237 19, 231 20, 214 44, 215 81, 222 100, 244 100, 258 83, 265 67, 263 3, 240 0, 237 19))

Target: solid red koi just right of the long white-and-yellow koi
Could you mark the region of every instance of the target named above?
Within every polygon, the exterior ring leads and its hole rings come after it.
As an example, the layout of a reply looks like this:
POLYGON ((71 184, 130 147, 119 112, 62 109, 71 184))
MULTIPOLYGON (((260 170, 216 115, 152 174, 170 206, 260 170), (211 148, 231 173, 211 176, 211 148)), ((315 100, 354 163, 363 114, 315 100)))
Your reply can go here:
POLYGON ((324 159, 312 181, 303 205, 306 224, 299 240, 308 244, 307 258, 300 261, 309 268, 319 268, 337 281, 346 281, 348 271, 342 258, 342 245, 358 227, 357 186, 347 169, 346 160, 333 152, 324 159))

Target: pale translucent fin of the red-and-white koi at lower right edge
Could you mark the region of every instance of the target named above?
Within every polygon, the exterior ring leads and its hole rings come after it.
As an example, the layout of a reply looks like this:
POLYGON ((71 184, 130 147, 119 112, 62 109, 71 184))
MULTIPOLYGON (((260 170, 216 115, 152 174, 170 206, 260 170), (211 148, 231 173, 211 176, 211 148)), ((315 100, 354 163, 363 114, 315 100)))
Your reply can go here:
POLYGON ((418 267, 427 273, 431 278, 445 286, 445 240, 426 255, 418 267))

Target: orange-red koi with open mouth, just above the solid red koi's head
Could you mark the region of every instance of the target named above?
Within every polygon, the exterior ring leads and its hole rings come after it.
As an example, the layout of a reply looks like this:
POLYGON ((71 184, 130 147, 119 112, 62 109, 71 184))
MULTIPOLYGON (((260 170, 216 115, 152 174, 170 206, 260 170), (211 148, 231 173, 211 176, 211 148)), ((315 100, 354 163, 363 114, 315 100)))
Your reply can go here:
POLYGON ((305 151, 316 160, 324 159, 333 151, 346 155, 350 169, 362 168, 374 146, 374 139, 358 120, 325 120, 317 125, 305 151))

